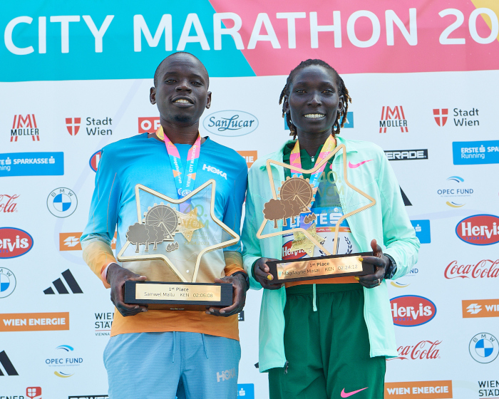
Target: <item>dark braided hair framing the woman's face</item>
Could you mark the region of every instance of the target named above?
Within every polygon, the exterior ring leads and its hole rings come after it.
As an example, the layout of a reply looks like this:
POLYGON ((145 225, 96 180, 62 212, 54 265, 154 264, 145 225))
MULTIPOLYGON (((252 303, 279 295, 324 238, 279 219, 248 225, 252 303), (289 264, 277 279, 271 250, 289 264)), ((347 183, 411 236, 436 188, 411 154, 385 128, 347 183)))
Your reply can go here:
POLYGON ((297 128, 292 123, 291 113, 284 112, 284 103, 283 103, 284 96, 287 96, 289 98, 289 88, 291 88, 291 83, 297 72, 301 71, 304 68, 307 68, 307 66, 314 66, 314 65, 323 66, 324 68, 329 69, 329 71, 332 71, 334 73, 334 76, 336 77, 336 86, 338 86, 338 92, 339 92, 338 95, 339 96, 343 95, 344 98, 343 108, 341 110, 338 110, 338 113, 336 114, 336 121, 334 122, 333 125, 334 136, 339 135, 340 128, 343 128, 346 120, 346 113, 348 113, 349 110, 349 102, 351 103, 349 90, 345 87, 343 79, 341 79, 341 76, 339 76, 336 70, 332 66, 330 66, 329 63, 326 63, 322 60, 310 59, 310 58, 306 61, 302 61, 301 63, 299 63, 299 65, 296 68, 293 69, 293 71, 291 71, 291 73, 289 73, 289 76, 287 77, 286 81, 286 86, 284 86, 284 88, 282 89, 281 96, 279 97, 279 104, 282 103, 282 118, 284 118, 284 115, 286 115, 286 122, 291 132, 289 133, 289 135, 293 137, 293 140, 297 138, 297 128))

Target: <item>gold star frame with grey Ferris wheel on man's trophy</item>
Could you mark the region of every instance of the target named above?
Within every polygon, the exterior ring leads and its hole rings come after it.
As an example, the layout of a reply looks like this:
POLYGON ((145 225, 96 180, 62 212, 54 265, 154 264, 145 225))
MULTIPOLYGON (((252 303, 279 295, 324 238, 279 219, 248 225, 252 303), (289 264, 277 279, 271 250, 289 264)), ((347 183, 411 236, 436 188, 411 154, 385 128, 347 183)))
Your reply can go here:
POLYGON ((223 223, 215 216, 216 184, 217 183, 214 179, 210 179, 203 185, 200 185, 200 187, 197 187, 196 190, 190 192, 189 195, 186 195, 181 199, 173 199, 167 197, 166 195, 150 189, 149 187, 145 187, 144 185, 135 185, 135 204, 137 205, 138 222, 129 227, 127 233, 127 241, 125 242, 123 248, 120 250, 117 256, 118 261, 125 262, 161 259, 165 261, 165 263, 179 277, 182 282, 195 282, 197 279, 197 272, 199 271, 202 255, 206 254, 207 252, 215 251, 215 249, 230 247, 233 244, 237 244, 237 242, 239 242, 240 240, 240 237, 237 233, 235 233, 232 229, 230 229, 230 227, 228 227, 225 223, 223 223), (232 238, 225 241, 220 240, 220 242, 218 242, 217 244, 202 249, 202 251, 197 254, 194 270, 192 273, 192 281, 187 281, 183 274, 180 273, 180 271, 177 269, 175 264, 173 264, 173 262, 168 258, 167 254, 155 252, 155 249, 157 249, 157 244, 160 242, 170 242, 170 244, 168 244, 167 246, 166 252, 169 253, 178 250, 178 242, 174 242, 176 233, 182 234, 187 242, 190 242, 193 232, 203 227, 202 222, 197 219, 197 208, 194 207, 194 209, 192 209, 189 213, 182 214, 176 209, 170 207, 168 204, 155 204, 154 207, 149 207, 148 212, 145 212, 145 218, 143 218, 140 210, 140 191, 142 190, 150 195, 158 197, 159 199, 163 199, 169 204, 182 204, 182 202, 186 202, 188 199, 192 198, 198 192, 204 190, 210 185, 212 185, 210 196, 210 217, 212 221, 215 222, 215 224, 217 224, 232 238), (153 237, 151 237, 151 235, 153 237), (148 252, 148 254, 135 254, 128 256, 124 255, 126 249, 128 249, 130 245, 134 247, 136 246, 135 252, 139 252, 140 244, 145 244, 145 252, 148 252), (152 251, 150 250, 149 244, 154 244, 152 251))

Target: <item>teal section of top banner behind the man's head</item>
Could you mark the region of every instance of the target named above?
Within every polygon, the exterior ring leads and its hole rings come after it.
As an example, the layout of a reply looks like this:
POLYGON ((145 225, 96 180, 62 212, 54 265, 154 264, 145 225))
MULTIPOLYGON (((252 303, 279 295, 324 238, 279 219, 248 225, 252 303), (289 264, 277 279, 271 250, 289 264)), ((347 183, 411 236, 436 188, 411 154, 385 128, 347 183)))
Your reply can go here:
MULTIPOLYGON (((186 43, 185 51, 200 58, 210 76, 255 76, 231 36, 222 35, 222 49, 214 49, 215 9, 207 0, 26 0, 2 1, 0 5, 0 31, 4 33, 0 39, 0 81, 152 78, 155 66, 176 51, 187 14, 190 13, 199 17, 210 51, 203 51, 200 43, 186 43), (140 52, 134 51, 133 17, 142 15, 151 36, 154 37, 163 14, 170 14, 172 17, 173 50, 165 50, 163 32, 158 46, 155 47, 150 47, 144 33, 140 33, 142 48, 140 52), (85 15, 91 16, 97 29, 101 28, 106 16, 114 16, 104 33, 101 53, 96 53, 96 41, 83 19, 85 15), (26 55, 9 51, 5 40, 9 22, 20 16, 33 19, 31 24, 17 24, 12 31, 12 43, 17 48, 32 46, 33 51, 26 55), (79 16, 78 22, 68 23, 68 53, 61 52, 61 22, 51 22, 51 16, 79 16), (46 53, 39 52, 38 17, 46 17, 46 53)), ((189 36, 196 36, 194 26, 191 26, 189 36)))

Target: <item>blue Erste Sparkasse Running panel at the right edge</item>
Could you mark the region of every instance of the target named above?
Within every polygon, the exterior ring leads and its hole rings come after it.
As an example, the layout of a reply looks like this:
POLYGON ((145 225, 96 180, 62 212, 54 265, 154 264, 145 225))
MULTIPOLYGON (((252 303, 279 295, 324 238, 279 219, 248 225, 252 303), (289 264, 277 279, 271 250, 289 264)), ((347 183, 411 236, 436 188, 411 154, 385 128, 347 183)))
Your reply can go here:
POLYGON ((454 165, 484 165, 499 163, 499 140, 454 141, 454 165))

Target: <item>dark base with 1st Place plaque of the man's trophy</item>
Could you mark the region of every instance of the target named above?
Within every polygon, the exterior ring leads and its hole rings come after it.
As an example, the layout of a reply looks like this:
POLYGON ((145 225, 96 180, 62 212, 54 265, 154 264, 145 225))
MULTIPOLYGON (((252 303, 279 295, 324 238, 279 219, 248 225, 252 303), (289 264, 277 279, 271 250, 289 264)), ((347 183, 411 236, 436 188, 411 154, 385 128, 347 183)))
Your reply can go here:
POLYGON ((125 304, 149 309, 205 311, 206 306, 232 305, 232 284, 125 281, 125 304))

